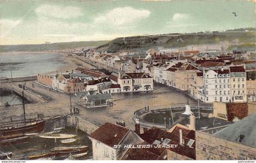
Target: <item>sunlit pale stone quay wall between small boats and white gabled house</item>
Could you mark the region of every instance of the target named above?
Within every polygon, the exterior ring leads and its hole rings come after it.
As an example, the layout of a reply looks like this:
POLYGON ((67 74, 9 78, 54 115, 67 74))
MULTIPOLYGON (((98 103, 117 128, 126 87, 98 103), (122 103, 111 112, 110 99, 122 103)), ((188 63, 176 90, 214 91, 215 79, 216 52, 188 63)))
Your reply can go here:
POLYGON ((79 130, 84 131, 87 134, 92 133, 93 131, 97 130, 101 124, 94 124, 89 120, 85 119, 84 117, 79 116, 68 116, 67 119, 67 126, 78 128, 79 130))

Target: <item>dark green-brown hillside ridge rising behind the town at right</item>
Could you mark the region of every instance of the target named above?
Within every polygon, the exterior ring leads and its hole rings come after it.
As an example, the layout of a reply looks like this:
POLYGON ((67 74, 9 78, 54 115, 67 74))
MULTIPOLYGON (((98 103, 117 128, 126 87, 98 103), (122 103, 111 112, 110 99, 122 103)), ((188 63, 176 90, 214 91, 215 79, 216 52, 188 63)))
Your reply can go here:
MULTIPOLYGON (((148 50, 154 47, 185 47, 190 44, 218 44, 226 41, 233 44, 255 45, 255 29, 235 29, 226 32, 171 33, 116 38, 98 47, 98 50, 148 50)), ((227 47, 228 48, 228 47, 227 47)))

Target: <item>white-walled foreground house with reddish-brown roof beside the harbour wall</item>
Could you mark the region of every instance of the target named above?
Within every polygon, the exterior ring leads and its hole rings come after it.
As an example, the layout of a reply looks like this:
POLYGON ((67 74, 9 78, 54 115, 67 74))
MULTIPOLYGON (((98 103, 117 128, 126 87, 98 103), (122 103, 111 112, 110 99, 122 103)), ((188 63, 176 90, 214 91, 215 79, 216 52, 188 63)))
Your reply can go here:
POLYGON ((88 136, 93 146, 94 160, 117 160, 126 153, 129 148, 124 145, 132 145, 143 142, 134 131, 128 128, 105 123, 88 136), (120 145, 121 148, 116 148, 120 145))

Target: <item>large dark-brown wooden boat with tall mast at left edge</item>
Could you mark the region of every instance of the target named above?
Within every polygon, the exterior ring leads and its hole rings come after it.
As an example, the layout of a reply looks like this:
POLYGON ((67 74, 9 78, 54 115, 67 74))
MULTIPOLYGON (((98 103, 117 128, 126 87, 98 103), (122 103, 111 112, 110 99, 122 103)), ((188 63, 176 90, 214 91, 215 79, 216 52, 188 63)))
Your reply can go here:
POLYGON ((24 86, 23 86, 23 120, 12 120, 10 122, 1 123, 0 140, 10 139, 12 137, 21 137, 28 133, 41 133, 44 128, 43 119, 26 119, 26 109, 24 102, 24 86))

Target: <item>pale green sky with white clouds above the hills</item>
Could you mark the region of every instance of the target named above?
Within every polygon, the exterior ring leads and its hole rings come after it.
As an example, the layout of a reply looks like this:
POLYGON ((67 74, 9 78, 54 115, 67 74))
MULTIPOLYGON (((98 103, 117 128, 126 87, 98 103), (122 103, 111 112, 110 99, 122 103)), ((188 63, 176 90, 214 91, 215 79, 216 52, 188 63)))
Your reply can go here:
POLYGON ((255 27, 254 19, 246 0, 1 0, 0 44, 223 31, 255 27))

